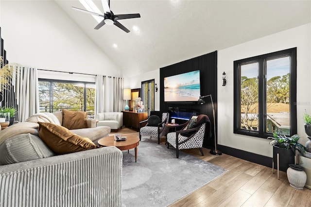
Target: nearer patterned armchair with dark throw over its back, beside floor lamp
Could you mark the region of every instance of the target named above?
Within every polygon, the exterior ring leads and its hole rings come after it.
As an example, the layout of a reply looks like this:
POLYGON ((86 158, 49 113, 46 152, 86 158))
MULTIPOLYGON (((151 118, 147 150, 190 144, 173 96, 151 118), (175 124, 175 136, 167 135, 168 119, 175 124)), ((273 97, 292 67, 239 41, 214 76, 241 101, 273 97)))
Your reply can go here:
POLYGON ((167 134, 167 148, 172 145, 176 149, 176 158, 179 156, 179 150, 199 148, 202 156, 202 145, 205 132, 211 135, 210 121, 207 115, 192 116, 189 121, 178 127, 181 130, 167 134), (207 129, 207 130, 206 130, 207 129))

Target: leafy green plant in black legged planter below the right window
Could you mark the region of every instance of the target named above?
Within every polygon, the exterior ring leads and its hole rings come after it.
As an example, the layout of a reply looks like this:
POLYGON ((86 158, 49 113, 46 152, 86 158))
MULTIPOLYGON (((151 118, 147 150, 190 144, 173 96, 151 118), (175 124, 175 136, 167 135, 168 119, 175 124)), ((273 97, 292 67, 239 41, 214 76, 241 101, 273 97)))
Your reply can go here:
POLYGON ((273 146, 273 162, 277 163, 277 154, 279 154, 279 170, 286 172, 289 164, 295 163, 296 150, 301 154, 305 154, 306 148, 298 143, 298 135, 286 137, 285 135, 273 134, 270 144, 273 146))

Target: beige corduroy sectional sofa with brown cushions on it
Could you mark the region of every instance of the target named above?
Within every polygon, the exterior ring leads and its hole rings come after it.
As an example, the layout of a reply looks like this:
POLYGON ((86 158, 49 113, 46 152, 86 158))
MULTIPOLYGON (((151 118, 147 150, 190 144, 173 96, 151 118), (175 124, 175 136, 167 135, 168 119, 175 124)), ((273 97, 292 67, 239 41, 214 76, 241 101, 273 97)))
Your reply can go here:
MULTIPOLYGON (((35 120, 49 120, 45 115, 0 131, 0 155, 12 148, 11 157, 0 159, 17 161, 0 165, 0 207, 121 206, 121 151, 103 147, 55 155, 36 134, 35 120), (27 133, 16 135, 18 127, 27 133), (5 139, 6 135, 14 136, 5 139), (27 156, 31 159, 25 160, 27 156)), ((62 112, 53 115, 62 124, 62 112)), ((49 121, 57 122, 54 118, 49 121)), ((95 127, 92 119, 87 120, 87 126, 90 128, 70 132, 94 142, 110 133, 107 126, 95 127)))

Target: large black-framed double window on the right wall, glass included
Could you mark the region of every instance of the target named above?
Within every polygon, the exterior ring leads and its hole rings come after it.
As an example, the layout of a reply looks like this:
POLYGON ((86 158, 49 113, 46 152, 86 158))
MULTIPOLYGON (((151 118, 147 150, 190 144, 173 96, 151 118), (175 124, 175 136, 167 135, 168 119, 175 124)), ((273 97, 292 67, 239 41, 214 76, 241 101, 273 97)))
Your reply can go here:
POLYGON ((296 48, 234 61, 234 133, 297 133, 296 48))

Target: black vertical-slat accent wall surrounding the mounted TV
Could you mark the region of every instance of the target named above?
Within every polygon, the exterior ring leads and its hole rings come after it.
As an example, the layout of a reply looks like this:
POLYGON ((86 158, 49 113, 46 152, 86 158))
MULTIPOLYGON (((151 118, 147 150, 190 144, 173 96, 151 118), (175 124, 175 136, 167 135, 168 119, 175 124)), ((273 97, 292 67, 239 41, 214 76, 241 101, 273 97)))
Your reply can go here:
MULTIPOLYGON (((197 102, 185 103, 166 103, 164 102, 164 78, 172 75, 177 75, 194 70, 200 70, 201 82, 201 96, 212 95, 214 108, 215 108, 215 122, 217 133, 217 51, 210 52, 198 57, 191 58, 167 67, 160 68, 160 110, 168 111, 169 107, 178 107, 185 110, 199 110, 200 114, 206 114, 212 124, 211 133, 212 137, 204 140, 203 146, 205 148, 214 149, 214 125, 213 125, 213 112, 210 97, 204 98, 206 104, 198 104, 197 102)), ((217 138, 217 134, 216 134, 217 138)))

